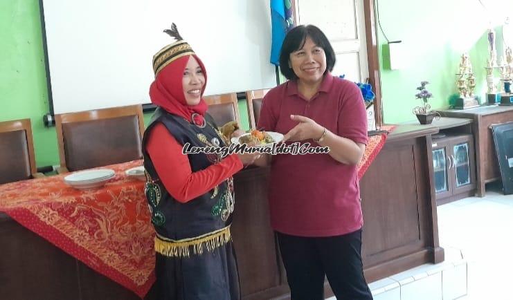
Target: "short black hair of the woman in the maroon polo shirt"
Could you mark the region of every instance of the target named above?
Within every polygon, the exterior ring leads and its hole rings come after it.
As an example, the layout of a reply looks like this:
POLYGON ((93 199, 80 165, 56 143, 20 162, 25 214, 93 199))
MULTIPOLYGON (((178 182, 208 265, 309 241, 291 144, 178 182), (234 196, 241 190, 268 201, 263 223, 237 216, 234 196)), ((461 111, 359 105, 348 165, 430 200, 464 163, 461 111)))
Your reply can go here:
POLYGON ((335 66, 336 62, 335 51, 324 32, 314 25, 300 25, 287 32, 280 50, 280 71, 287 79, 298 78, 294 70, 289 66, 290 53, 303 48, 307 37, 324 50, 326 55, 326 71, 324 73, 333 71, 333 66, 335 66))

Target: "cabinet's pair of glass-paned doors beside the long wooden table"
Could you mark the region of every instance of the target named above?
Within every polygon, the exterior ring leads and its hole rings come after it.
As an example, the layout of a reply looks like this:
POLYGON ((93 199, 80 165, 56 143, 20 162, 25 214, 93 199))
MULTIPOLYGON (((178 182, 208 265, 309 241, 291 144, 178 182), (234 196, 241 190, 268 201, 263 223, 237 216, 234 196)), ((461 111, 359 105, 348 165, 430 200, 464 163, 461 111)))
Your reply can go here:
POLYGON ((476 189, 474 137, 433 138, 433 182, 437 204, 472 196, 476 189))

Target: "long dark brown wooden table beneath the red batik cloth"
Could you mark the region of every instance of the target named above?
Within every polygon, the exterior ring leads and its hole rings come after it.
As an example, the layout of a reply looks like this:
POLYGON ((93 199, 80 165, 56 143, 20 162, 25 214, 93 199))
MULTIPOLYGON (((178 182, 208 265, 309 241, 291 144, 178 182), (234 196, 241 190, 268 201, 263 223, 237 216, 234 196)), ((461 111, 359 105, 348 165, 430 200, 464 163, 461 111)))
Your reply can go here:
MULTIPOLYGON (((362 258, 368 282, 444 259, 431 179, 431 134, 437 132, 433 126, 398 126, 361 178, 362 258)), ((269 225, 269 168, 244 169, 234 180, 232 235, 242 297, 287 299, 285 270, 269 225)), ((8 247, 0 245, 0 264, 9 267, 0 268, 0 292, 10 300, 138 299, 2 213, 0 239, 10 241, 8 247)), ((326 297, 332 294, 327 283, 325 290, 326 297)), ((154 290, 145 299, 156 299, 154 290)))

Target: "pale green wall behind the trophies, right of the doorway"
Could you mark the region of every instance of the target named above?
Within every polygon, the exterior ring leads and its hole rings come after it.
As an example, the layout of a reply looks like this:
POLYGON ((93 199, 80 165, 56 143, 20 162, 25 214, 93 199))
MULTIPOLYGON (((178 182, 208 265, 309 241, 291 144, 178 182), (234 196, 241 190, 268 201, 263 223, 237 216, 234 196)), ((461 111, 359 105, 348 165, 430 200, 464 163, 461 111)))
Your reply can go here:
MULTIPOLYGON (((401 58, 405 64, 399 70, 383 68, 381 48, 386 39, 378 27, 385 122, 416 120, 412 111, 422 102, 415 99, 415 88, 422 80, 430 82, 427 88, 434 96, 431 107, 448 109, 449 97, 457 93, 455 74, 465 52, 469 53, 476 75, 476 94, 482 101, 485 99, 489 22, 486 10, 478 1, 380 0, 379 19, 389 41, 402 41, 401 58)), ((504 20, 497 16, 492 23, 498 56, 502 53, 499 24, 504 20)))

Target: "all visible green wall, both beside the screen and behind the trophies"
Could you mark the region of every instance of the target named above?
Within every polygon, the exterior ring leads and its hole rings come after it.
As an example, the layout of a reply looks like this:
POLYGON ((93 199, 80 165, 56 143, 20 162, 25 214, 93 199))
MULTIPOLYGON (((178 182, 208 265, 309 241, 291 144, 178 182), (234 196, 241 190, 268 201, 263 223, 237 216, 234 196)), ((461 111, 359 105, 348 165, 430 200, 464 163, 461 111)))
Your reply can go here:
MULTIPOLYGON (((415 88, 422 80, 431 82, 432 106, 446 108, 448 97, 456 92, 454 73, 465 51, 476 71, 478 91, 484 95, 487 21, 478 1, 381 0, 379 8, 388 39, 401 39, 406 49, 405 68, 381 69, 386 122, 415 118, 411 111, 420 104, 414 97, 415 88)), ((55 129, 42 124, 48 95, 37 0, 0 1, 0 41, 0 121, 30 118, 37 165, 57 165, 55 129)), ((385 43, 381 33, 379 43, 385 43)), ((498 50, 501 53, 500 43, 498 50)), ((248 129, 246 102, 241 101, 239 109, 242 126, 248 129)), ((145 115, 145 122, 149 118, 145 115)))

